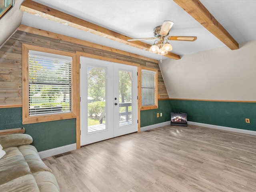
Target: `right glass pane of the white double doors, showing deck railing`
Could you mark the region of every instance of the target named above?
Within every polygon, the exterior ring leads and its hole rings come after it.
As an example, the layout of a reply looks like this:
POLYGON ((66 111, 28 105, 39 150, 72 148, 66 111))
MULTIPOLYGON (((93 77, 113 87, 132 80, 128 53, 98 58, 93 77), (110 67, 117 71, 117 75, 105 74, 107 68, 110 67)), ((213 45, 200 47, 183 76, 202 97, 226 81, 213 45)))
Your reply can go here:
POLYGON ((132 72, 119 70, 119 126, 132 124, 132 72))

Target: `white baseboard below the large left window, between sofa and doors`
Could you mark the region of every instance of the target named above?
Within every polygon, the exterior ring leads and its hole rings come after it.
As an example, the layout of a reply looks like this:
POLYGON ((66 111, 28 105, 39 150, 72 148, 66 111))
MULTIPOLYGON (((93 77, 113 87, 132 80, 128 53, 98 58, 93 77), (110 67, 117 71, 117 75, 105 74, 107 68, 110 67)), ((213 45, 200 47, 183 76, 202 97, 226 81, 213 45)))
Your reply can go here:
POLYGON ((41 159, 76 150, 76 143, 38 152, 41 159))

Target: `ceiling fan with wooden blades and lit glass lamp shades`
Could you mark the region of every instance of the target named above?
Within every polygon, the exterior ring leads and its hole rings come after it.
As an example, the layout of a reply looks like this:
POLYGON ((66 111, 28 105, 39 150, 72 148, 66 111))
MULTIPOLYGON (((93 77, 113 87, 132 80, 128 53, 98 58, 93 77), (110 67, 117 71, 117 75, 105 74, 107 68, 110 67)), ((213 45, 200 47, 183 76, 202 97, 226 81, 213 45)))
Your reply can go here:
POLYGON ((168 51, 172 50, 172 46, 167 40, 176 40, 176 41, 195 41, 196 36, 168 36, 170 29, 172 28, 174 22, 164 21, 162 26, 157 26, 154 28, 153 33, 155 37, 150 38, 138 38, 138 39, 128 39, 127 41, 140 41, 140 40, 154 40, 154 44, 150 47, 150 52, 157 53, 159 55, 165 55, 168 51), (168 37, 166 37, 168 36, 168 37), (166 42, 165 42, 166 41, 166 42))

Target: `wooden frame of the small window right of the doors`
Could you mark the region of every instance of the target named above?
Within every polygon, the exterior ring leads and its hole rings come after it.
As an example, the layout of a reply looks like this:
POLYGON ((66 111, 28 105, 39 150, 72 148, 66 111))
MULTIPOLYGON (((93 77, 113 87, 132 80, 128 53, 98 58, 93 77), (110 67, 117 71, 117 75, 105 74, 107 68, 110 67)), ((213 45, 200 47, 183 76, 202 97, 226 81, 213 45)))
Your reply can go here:
POLYGON ((157 109, 158 108, 158 70, 155 69, 155 68, 149 68, 149 67, 144 67, 144 66, 141 66, 138 68, 138 93, 139 93, 139 108, 140 110, 150 110, 150 109, 157 109), (141 90, 142 90, 142 85, 141 85, 141 71, 142 70, 149 70, 149 71, 154 71, 156 72, 156 78, 155 78, 155 84, 156 84, 156 87, 155 87, 155 105, 150 105, 150 106, 142 106, 142 103, 141 103, 141 98, 142 98, 142 93, 141 93, 141 90))

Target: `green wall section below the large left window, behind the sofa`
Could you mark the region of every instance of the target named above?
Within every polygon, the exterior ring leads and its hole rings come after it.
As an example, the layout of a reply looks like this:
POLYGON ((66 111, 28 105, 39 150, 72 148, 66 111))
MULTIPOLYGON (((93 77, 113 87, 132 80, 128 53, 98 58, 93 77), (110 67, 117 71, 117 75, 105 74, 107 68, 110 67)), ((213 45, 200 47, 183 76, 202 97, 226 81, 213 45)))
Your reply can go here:
POLYGON ((76 143, 76 119, 22 125, 22 108, 0 108, 0 130, 22 126, 38 152, 76 143))

